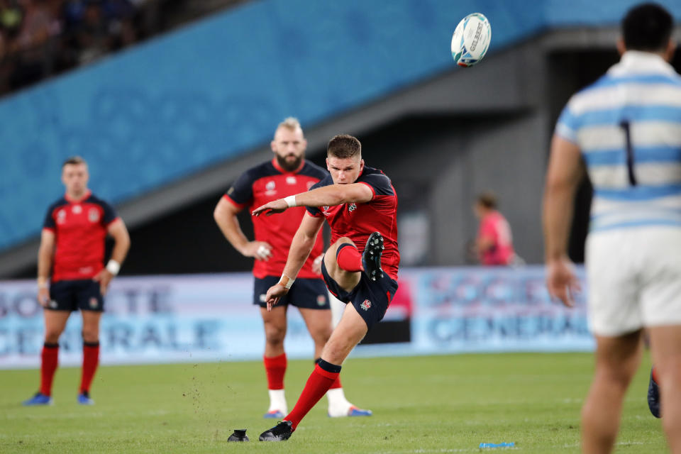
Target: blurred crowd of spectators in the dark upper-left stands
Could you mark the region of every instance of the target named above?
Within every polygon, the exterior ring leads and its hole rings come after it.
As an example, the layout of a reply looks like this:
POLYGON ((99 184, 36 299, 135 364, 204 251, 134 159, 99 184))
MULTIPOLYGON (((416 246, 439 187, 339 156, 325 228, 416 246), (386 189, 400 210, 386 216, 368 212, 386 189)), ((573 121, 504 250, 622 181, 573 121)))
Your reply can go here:
POLYGON ((0 94, 138 40, 153 0, 0 0, 0 94))

